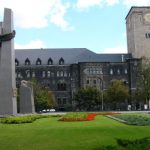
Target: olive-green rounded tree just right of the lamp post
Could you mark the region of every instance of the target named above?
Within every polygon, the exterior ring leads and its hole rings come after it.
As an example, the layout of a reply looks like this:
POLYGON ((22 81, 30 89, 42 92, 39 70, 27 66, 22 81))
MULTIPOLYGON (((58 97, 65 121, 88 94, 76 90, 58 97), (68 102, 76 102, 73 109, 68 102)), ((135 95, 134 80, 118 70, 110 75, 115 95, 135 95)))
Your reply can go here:
POLYGON ((113 109, 117 109, 117 105, 124 103, 129 97, 129 89, 121 80, 115 80, 108 87, 106 91, 106 102, 113 106, 113 109))

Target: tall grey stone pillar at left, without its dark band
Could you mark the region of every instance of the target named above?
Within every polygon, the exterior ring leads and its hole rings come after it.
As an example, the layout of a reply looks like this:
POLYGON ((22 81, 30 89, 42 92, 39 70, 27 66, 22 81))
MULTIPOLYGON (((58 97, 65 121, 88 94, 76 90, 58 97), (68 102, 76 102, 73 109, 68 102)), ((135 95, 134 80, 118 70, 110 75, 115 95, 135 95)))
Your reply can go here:
MULTIPOLYGON (((13 13, 5 8, 0 36, 13 32, 13 13)), ((16 79, 14 40, 4 37, 0 41, 0 115, 16 115, 16 79)))

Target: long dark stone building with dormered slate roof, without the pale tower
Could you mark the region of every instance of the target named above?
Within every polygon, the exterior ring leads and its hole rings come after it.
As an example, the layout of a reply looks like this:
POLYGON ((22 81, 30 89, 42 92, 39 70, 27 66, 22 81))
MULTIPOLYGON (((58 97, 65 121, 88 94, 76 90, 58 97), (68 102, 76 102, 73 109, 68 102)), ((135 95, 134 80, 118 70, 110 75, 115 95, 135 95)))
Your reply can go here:
POLYGON ((36 78, 53 91, 60 110, 73 105, 73 92, 79 87, 93 86, 105 90, 113 80, 118 79, 128 86, 131 84, 130 54, 96 54, 86 48, 15 52, 17 86, 21 80, 36 78))

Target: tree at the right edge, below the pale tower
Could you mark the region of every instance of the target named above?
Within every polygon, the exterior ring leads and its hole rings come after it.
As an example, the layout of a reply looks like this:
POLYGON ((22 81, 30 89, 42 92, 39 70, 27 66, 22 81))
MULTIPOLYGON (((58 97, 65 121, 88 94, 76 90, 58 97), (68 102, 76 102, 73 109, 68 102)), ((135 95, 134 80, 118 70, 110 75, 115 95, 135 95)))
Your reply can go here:
POLYGON ((143 57, 138 65, 137 89, 143 93, 145 103, 150 101, 150 58, 143 57))

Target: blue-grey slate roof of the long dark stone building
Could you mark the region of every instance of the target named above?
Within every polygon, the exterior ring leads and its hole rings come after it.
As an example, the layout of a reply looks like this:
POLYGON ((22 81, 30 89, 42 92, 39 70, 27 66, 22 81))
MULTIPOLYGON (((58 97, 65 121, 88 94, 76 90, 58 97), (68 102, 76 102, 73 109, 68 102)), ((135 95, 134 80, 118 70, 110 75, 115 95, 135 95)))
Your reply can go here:
POLYGON ((130 54, 96 54, 86 48, 58 48, 58 49, 16 49, 16 59, 20 65, 28 58, 31 64, 36 64, 38 58, 46 65, 49 58, 53 64, 59 64, 61 58, 65 64, 78 62, 121 62, 122 59, 131 58, 130 54))

